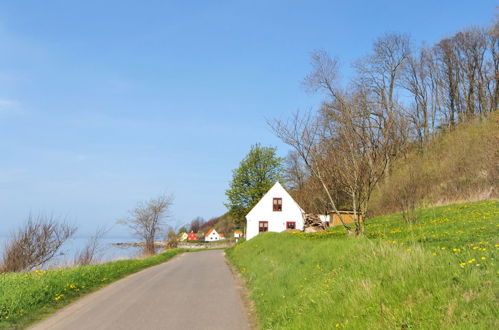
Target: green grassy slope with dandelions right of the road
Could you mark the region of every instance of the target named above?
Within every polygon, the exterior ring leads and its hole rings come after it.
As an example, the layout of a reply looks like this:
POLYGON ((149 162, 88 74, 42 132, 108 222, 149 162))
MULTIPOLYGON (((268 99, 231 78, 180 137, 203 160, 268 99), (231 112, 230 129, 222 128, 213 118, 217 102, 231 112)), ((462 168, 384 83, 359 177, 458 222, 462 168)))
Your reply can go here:
POLYGON ((266 233, 227 256, 263 329, 499 328, 499 202, 430 208, 421 218, 372 219, 360 239, 341 228, 266 233))

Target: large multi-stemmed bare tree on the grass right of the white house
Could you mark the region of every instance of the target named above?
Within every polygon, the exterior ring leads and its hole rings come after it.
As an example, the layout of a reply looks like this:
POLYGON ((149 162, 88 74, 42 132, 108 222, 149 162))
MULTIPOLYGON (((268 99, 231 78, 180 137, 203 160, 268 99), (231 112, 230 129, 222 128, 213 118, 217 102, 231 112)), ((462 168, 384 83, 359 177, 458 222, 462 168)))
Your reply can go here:
POLYGON ((288 122, 269 122, 276 135, 294 148, 310 175, 320 182, 330 210, 347 231, 338 211, 338 192, 350 197, 355 233, 362 235, 372 191, 397 157, 406 137, 394 89, 408 57, 408 41, 388 36, 375 44, 375 55, 362 66, 360 81, 343 90, 337 81, 337 61, 325 52, 312 57, 313 71, 305 79, 311 90, 327 95, 318 116, 295 114, 288 122))

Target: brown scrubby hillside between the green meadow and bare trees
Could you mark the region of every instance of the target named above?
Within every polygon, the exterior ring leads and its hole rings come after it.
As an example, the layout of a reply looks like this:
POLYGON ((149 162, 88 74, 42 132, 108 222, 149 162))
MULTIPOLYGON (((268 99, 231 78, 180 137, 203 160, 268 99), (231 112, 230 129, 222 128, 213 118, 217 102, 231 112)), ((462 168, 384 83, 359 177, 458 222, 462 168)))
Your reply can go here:
POLYGON ((374 191, 371 215, 499 197, 499 112, 414 144, 374 191))

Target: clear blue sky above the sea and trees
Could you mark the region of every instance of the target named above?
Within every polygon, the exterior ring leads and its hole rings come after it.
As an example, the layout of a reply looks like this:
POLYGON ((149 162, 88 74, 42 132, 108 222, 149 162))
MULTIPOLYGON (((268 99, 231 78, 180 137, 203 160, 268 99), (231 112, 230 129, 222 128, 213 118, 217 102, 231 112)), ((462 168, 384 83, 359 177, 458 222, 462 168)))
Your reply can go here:
MULTIPOLYGON (((225 212, 266 119, 316 107, 309 55, 345 76, 385 32, 433 43, 491 22, 481 1, 2 1, 0 235, 32 213, 113 225, 173 193, 174 224, 225 212)), ((115 226, 112 235, 123 235, 115 226)))

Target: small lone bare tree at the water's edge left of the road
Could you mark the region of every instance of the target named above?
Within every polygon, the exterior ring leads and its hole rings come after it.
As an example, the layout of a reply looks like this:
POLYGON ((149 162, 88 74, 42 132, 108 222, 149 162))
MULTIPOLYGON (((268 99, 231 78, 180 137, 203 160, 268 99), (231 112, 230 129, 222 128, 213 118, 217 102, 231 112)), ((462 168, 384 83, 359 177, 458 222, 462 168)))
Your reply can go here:
POLYGON ((144 240, 146 254, 155 254, 154 242, 164 229, 164 221, 172 204, 171 195, 141 202, 129 211, 128 217, 118 220, 118 223, 128 226, 133 235, 144 240))

